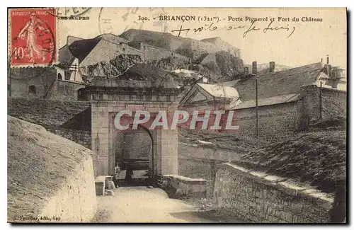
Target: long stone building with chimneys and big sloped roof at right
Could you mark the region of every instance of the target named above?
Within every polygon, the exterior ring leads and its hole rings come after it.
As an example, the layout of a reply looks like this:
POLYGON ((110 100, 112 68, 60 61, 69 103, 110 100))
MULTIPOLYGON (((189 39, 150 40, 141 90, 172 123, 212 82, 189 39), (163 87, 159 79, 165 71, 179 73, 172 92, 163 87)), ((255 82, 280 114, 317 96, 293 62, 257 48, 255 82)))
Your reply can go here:
MULTIPOLYGON (((239 135, 257 137, 256 78, 258 137, 261 139, 283 139, 307 130, 309 125, 321 120, 346 117, 346 78, 343 69, 331 67, 329 59, 326 64, 318 62, 283 71, 274 71, 275 63, 270 62, 268 71, 263 71, 263 74, 259 74, 256 67, 256 62, 253 62, 250 74, 218 84, 224 89, 232 86, 239 94, 238 99, 234 100, 236 103, 225 100, 222 105, 234 111, 239 135)), ((187 95, 192 95, 194 91, 196 88, 187 95)), ((181 103, 183 107, 196 110, 207 105, 205 97, 199 94, 181 103), (187 100, 190 103, 186 103, 187 100)))

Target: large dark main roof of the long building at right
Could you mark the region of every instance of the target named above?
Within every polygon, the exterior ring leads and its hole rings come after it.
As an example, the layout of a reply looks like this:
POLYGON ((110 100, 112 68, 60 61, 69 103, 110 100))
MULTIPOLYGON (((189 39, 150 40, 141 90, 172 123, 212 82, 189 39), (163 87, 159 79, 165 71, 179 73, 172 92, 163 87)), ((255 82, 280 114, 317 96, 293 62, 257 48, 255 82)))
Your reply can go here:
MULTIPOLYGON (((291 93, 299 93, 302 86, 314 84, 323 70, 321 62, 303 67, 258 75, 258 98, 271 98, 291 93)), ((237 81, 235 84, 241 100, 256 97, 256 76, 237 81)))

